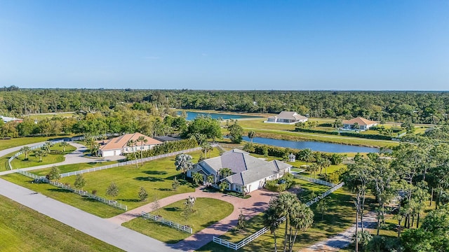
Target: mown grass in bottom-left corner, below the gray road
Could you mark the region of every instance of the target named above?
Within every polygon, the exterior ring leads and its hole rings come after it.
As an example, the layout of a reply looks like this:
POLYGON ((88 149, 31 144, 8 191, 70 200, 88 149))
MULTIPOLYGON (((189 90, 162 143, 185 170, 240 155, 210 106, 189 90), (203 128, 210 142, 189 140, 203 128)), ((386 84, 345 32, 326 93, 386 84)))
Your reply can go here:
POLYGON ((121 251, 0 195, 0 251, 121 251))

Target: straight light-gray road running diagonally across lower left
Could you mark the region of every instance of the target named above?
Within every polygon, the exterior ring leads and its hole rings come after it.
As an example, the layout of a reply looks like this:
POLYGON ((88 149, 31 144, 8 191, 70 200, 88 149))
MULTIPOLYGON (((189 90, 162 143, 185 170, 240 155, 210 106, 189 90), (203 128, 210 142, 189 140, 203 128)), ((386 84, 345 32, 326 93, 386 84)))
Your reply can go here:
POLYGON ((0 179, 0 194, 124 251, 178 251, 161 241, 0 179))

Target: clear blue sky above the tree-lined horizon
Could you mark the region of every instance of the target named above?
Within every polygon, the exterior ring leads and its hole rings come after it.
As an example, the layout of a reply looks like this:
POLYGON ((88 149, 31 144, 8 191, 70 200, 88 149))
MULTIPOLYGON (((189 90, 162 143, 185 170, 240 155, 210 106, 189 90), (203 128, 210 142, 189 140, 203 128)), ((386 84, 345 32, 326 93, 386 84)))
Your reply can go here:
POLYGON ((0 86, 449 90, 449 1, 0 0, 0 86))

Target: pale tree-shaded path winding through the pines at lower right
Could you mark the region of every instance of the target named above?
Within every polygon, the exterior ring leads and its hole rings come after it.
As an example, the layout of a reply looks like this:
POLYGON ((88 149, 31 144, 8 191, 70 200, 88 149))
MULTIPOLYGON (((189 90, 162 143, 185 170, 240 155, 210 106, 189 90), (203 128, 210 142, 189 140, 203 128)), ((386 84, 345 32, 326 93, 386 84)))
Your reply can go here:
MULTIPOLYGON (((371 229, 377 225, 377 218, 374 211, 368 212, 363 217, 363 228, 371 229)), ((360 231, 361 223, 358 222, 358 229, 360 231)), ((344 230, 338 235, 330 237, 324 241, 319 241, 307 248, 303 248, 300 252, 316 252, 316 251, 339 251, 341 248, 345 248, 352 243, 352 237, 356 233, 356 224, 351 228, 344 230)))

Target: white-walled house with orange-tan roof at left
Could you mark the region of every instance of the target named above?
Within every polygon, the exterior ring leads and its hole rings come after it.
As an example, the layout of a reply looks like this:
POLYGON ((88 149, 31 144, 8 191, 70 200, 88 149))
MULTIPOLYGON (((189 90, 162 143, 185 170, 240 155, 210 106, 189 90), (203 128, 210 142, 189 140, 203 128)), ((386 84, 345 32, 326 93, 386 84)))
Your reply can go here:
POLYGON ((110 157, 113 155, 123 155, 126 153, 133 153, 135 151, 147 151, 154 146, 162 144, 161 141, 147 137, 144 134, 124 134, 120 137, 114 137, 109 139, 106 143, 100 147, 100 155, 102 157, 110 157), (139 141, 139 137, 144 137, 147 141, 139 141), (137 143, 135 146, 128 146, 128 141, 133 140, 137 143))

